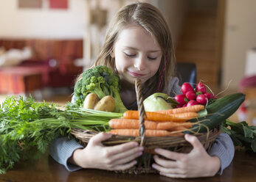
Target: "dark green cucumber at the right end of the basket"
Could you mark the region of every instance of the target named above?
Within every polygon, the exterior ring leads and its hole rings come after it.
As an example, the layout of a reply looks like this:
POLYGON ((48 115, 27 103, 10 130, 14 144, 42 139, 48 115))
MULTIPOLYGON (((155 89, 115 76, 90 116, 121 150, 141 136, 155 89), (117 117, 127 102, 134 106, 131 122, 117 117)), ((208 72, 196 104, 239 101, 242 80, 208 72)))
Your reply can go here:
MULTIPOLYGON (((207 132, 207 128, 211 130, 212 128, 218 127, 218 125, 223 123, 224 120, 229 118, 239 108, 239 106, 241 106, 244 99, 245 95, 241 92, 226 95, 223 98, 218 98, 214 103, 206 107, 207 115, 188 120, 191 123, 202 121, 202 125, 193 125, 190 129, 195 132, 204 133, 207 132)), ((193 134, 191 131, 184 131, 184 133, 193 134)))

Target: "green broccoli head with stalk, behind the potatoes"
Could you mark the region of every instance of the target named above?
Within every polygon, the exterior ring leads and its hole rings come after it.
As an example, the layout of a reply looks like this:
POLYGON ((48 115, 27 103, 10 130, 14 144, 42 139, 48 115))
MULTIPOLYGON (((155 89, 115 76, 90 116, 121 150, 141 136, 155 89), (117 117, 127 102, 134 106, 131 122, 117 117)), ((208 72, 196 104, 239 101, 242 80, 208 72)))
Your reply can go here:
POLYGON ((94 92, 100 99, 105 95, 111 95, 115 101, 114 112, 127 111, 120 97, 119 81, 119 76, 115 75, 108 67, 97 66, 86 70, 83 72, 82 78, 75 84, 75 104, 83 106, 86 96, 94 92))

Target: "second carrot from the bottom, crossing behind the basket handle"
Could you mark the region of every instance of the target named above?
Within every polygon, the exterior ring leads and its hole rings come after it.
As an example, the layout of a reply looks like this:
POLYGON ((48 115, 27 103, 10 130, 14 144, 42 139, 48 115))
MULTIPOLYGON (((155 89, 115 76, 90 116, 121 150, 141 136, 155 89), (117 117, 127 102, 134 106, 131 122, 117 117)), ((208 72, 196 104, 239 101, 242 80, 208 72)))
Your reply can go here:
MULTIPOLYGON (((189 122, 179 122, 175 123, 172 121, 167 122, 154 122, 145 120, 145 128, 150 130, 170 130, 178 126, 184 126, 190 128, 192 123, 189 122)), ((108 125, 112 129, 139 129, 139 120, 134 119, 111 119, 108 122, 108 125)))

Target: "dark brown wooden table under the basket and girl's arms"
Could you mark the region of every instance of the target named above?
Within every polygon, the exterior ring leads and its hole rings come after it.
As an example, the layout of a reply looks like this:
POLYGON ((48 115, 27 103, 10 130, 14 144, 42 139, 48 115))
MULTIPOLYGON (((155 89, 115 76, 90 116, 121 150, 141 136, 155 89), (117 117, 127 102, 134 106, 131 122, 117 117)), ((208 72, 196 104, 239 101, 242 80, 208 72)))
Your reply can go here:
POLYGON ((128 182, 128 181, 224 181, 224 182, 255 182, 256 181, 256 153, 244 153, 235 151, 235 158, 232 164, 224 170, 224 173, 211 178, 175 179, 167 178, 156 174, 128 175, 117 174, 104 170, 79 170, 68 172, 65 167, 58 164, 50 156, 44 155, 39 161, 27 161, 17 164, 7 174, 0 175, 0 181, 86 181, 86 182, 128 182))

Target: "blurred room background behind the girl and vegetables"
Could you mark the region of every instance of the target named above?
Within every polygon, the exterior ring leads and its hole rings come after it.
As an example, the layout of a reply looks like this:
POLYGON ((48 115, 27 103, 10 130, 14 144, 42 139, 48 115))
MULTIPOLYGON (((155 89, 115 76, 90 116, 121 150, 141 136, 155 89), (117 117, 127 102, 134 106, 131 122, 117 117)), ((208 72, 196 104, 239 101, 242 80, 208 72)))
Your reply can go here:
MULTIPOLYGON (((170 26, 176 59, 218 94, 245 92, 234 120, 256 120, 256 1, 145 0, 170 26)), ((0 101, 65 104, 94 62, 115 12, 132 0, 0 0, 0 101)), ((198 82, 197 81, 197 82, 198 82)))

